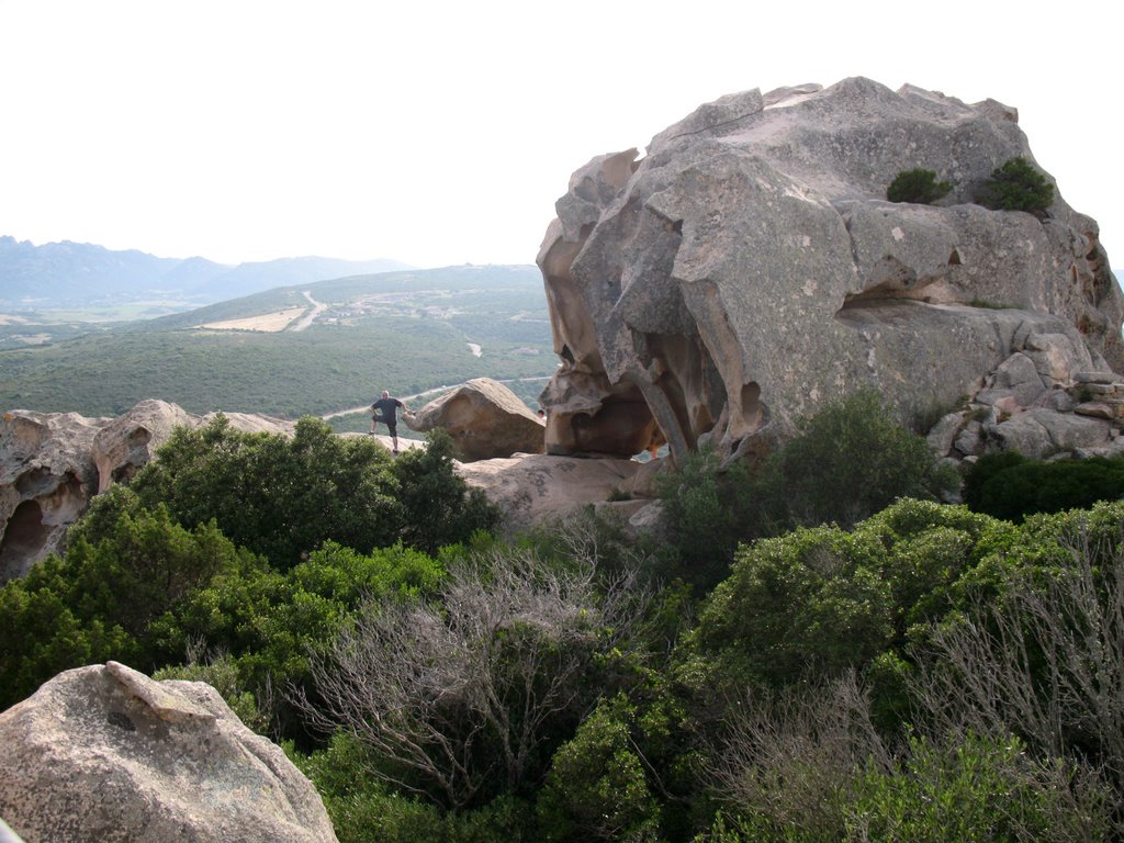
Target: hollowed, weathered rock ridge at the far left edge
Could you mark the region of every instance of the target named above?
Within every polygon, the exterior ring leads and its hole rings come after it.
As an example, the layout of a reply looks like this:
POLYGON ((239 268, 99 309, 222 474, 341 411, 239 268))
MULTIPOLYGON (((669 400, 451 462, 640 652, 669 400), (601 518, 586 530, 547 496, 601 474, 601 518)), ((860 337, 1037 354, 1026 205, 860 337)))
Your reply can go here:
MULTIPOLYGON (((142 401, 118 418, 12 410, 0 418, 0 582, 61 550, 90 498, 132 478, 179 426, 206 424, 166 401, 142 401)), ((292 434, 293 424, 228 414, 242 430, 292 434)))

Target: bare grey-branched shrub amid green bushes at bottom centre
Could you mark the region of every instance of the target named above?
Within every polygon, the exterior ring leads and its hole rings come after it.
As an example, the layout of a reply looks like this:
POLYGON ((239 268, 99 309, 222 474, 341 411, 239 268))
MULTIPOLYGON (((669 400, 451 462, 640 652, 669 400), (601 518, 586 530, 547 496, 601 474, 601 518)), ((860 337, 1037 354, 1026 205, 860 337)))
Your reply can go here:
POLYGON ((602 591, 595 573, 495 552, 452 570, 441 604, 372 600, 312 656, 323 701, 299 703, 371 749, 379 778, 445 808, 534 787, 643 611, 631 578, 602 591))

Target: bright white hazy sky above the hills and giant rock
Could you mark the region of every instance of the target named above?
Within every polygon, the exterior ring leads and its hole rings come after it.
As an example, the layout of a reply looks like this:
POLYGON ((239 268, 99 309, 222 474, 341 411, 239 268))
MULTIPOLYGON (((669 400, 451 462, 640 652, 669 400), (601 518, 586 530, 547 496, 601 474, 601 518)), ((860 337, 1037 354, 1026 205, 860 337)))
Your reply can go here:
POLYGON ((725 93, 863 75, 1016 107, 1122 265, 1121 35, 996 0, 0 0, 0 234, 529 263, 590 157, 725 93))

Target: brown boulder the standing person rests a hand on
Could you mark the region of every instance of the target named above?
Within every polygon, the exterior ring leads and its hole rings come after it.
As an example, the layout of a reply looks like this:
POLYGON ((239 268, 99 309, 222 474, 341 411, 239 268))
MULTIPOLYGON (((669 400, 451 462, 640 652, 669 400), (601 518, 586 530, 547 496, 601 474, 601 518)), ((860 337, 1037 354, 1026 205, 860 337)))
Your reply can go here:
POLYGON ((411 430, 444 428, 465 462, 543 452, 543 422, 491 378, 462 383, 402 420, 411 430))

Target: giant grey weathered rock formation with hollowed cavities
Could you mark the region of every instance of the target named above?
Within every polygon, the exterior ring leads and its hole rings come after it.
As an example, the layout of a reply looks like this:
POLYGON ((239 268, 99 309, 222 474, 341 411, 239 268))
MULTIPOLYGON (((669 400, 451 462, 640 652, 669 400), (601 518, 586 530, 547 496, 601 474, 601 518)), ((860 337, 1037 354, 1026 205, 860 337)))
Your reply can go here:
POLYGON ((547 453, 754 453, 861 388, 908 422, 1034 336, 1121 370, 1096 223, 1057 192, 1041 220, 971 203, 1019 155, 1013 109, 850 79, 725 97, 642 160, 593 158, 538 255, 562 360, 547 453), (953 182, 941 207, 886 201, 914 167, 953 182))

